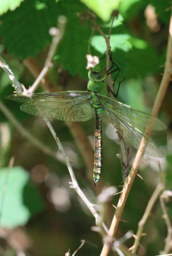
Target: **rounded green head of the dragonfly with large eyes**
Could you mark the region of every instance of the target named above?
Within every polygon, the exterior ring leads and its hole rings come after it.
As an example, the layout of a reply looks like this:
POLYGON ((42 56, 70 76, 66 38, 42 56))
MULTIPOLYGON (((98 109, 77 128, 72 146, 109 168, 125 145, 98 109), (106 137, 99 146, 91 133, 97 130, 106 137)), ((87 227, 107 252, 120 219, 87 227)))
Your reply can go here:
POLYGON ((88 72, 88 77, 91 81, 100 82, 106 79, 106 69, 100 66, 96 66, 94 68, 90 68, 88 72))

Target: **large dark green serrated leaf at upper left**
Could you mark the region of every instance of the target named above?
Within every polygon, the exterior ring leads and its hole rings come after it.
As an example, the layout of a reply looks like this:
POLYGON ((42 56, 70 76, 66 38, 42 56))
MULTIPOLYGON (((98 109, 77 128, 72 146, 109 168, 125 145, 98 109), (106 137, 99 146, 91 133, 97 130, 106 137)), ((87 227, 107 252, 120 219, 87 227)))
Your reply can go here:
POLYGON ((56 26, 57 4, 55 0, 25 0, 13 12, 1 17, 1 36, 8 52, 21 57, 34 57, 51 42, 49 29, 56 26))

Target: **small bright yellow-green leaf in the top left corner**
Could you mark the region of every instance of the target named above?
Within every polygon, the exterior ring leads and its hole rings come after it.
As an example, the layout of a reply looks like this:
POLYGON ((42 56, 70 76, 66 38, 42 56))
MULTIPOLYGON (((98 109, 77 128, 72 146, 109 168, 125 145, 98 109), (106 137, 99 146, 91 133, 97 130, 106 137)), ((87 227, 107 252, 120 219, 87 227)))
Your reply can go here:
POLYGON ((0 1, 0 15, 6 13, 8 10, 13 11, 24 0, 1 0, 0 1))

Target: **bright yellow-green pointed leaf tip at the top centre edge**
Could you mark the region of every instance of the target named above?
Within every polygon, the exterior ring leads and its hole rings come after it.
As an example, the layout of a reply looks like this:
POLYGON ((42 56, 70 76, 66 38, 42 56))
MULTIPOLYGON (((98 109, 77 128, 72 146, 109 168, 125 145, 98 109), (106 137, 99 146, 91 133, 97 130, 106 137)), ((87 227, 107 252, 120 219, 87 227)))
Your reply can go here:
POLYGON ((113 10, 118 9, 120 4, 120 0, 81 0, 81 2, 93 10, 104 22, 111 18, 113 10))

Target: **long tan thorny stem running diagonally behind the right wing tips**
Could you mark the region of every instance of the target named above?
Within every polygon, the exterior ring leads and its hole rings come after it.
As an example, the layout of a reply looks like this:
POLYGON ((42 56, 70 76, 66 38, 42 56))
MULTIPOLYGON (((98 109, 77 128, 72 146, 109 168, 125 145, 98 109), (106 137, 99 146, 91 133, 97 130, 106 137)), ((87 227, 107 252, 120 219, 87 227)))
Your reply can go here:
MULTIPOLYGON (((166 93, 166 90, 168 89, 169 82, 171 81, 171 70, 172 70, 172 15, 170 19, 169 24, 169 38, 168 38, 168 49, 166 54, 166 63, 164 68, 164 75, 162 77, 162 81, 160 83, 159 92, 157 93, 157 97, 155 99, 155 102, 153 104, 152 108, 152 114, 154 116, 157 116, 160 106, 162 104, 162 100, 164 99, 164 95, 166 93)), ((151 129, 149 132, 147 132, 148 136, 151 134, 151 129)), ((121 220, 121 214, 123 212, 123 208, 125 206, 125 203, 127 201, 127 198, 129 196, 130 189, 132 187, 132 184, 134 182, 134 179, 137 175, 137 171, 139 169, 139 165, 141 163, 141 159, 145 153, 145 140, 143 139, 141 141, 141 145, 139 149, 137 150, 136 157, 134 159, 134 163, 132 165, 132 168, 129 173, 129 177, 125 179, 125 183, 123 186, 123 193, 120 196, 120 199, 118 201, 118 205, 116 207, 116 212, 114 214, 113 221, 111 223, 111 228, 109 229, 109 236, 114 237, 116 234, 116 230, 118 228, 118 225, 121 220)), ((101 256, 107 256, 109 254, 110 247, 108 244, 104 244, 104 247, 102 249, 101 256)))

